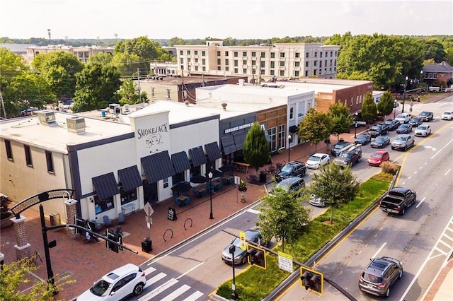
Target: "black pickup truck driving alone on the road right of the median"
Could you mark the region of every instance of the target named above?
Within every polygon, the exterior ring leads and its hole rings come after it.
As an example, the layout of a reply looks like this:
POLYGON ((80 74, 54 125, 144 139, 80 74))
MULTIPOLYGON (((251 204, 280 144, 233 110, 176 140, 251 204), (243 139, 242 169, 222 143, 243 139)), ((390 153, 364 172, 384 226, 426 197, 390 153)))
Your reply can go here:
POLYGON ((384 199, 379 202, 379 208, 386 213, 398 213, 401 216, 417 199, 415 191, 403 187, 390 189, 384 199))

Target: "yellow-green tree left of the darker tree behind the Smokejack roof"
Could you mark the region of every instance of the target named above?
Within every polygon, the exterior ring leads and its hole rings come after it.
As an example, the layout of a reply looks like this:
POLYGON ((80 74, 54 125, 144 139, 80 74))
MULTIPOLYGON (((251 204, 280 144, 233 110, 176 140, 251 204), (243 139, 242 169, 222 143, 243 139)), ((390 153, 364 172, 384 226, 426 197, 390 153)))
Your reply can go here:
POLYGON ((71 97, 76 90, 76 73, 84 69, 79 59, 69 52, 50 52, 38 54, 32 61, 38 71, 52 88, 57 98, 71 97))

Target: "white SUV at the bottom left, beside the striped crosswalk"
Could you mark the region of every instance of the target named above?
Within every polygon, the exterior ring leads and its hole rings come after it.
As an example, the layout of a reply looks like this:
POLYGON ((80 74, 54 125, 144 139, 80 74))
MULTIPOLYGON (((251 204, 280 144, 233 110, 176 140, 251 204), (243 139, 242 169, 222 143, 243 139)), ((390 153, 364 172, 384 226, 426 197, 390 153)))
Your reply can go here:
POLYGON ((141 294, 145 283, 147 283, 147 278, 145 278, 142 268, 134 264, 126 264, 102 276, 76 300, 119 301, 131 294, 134 296, 141 294))

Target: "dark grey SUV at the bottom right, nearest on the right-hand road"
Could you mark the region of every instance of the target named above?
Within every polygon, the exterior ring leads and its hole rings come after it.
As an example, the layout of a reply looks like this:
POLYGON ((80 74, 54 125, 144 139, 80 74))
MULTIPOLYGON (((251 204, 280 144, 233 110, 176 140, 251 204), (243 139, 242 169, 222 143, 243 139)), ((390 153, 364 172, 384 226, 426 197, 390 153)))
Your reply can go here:
POLYGON ((390 287, 403 277, 403 263, 382 256, 373 258, 359 278, 359 288, 372 295, 389 297, 390 287))

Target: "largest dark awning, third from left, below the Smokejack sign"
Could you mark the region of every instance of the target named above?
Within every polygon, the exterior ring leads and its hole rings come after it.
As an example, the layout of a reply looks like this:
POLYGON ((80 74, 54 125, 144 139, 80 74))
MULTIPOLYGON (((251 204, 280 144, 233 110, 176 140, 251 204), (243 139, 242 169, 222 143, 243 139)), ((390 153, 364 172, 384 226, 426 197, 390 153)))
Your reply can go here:
POLYGON ((168 151, 161 151, 141 159, 148 183, 155 183, 175 174, 168 151))

